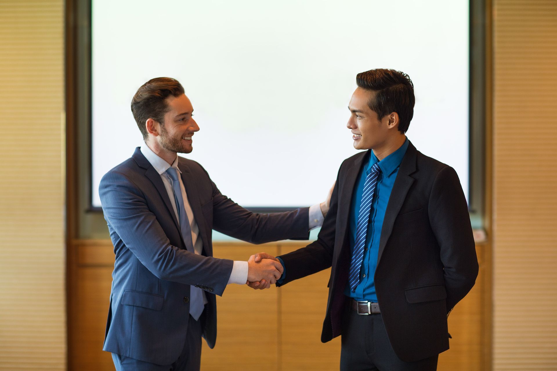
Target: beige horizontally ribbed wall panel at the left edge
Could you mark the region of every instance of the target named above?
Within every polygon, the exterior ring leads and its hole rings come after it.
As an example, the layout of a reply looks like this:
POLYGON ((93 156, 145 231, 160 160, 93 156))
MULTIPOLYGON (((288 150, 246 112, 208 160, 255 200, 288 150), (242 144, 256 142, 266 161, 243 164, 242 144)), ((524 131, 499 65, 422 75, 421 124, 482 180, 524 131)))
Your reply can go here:
POLYGON ((63 4, 0 1, 0 370, 66 368, 63 4))

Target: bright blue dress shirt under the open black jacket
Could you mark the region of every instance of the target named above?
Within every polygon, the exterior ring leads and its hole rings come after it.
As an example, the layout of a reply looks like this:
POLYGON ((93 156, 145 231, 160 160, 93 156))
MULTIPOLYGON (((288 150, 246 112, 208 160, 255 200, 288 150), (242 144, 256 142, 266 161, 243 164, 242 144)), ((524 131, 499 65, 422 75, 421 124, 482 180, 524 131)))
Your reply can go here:
POLYGON ((344 294, 355 300, 368 300, 377 303, 377 294, 375 293, 375 268, 377 268, 377 258, 379 255, 379 241, 381 239, 381 229, 383 220, 385 219, 385 211, 389 202, 390 192, 393 190, 394 180, 397 179, 400 162, 408 149, 408 138, 404 144, 383 160, 379 159, 369 150, 369 154, 364 159, 360 174, 357 178, 354 188, 354 194, 350 204, 350 220, 349 220, 349 240, 350 240, 350 256, 354 250, 356 240, 356 225, 358 225, 358 215, 360 211, 361 194, 364 189, 365 178, 372 170, 372 166, 379 162, 379 174, 377 185, 375 186, 375 195, 372 201, 372 211, 370 213, 368 233, 365 238, 364 256, 360 271, 360 283, 356 286, 355 291, 350 290, 350 284, 346 284, 344 294))

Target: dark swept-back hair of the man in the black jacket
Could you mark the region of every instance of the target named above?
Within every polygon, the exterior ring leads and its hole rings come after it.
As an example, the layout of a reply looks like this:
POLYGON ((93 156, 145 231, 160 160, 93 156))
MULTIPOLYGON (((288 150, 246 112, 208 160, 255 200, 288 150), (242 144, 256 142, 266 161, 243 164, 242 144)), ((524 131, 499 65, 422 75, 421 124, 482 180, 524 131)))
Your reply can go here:
POLYGON ((398 130, 405 133, 414 116, 414 84, 403 72, 377 68, 358 73, 356 85, 375 92, 368 102, 369 108, 381 120, 391 112, 397 112, 400 123, 398 130))

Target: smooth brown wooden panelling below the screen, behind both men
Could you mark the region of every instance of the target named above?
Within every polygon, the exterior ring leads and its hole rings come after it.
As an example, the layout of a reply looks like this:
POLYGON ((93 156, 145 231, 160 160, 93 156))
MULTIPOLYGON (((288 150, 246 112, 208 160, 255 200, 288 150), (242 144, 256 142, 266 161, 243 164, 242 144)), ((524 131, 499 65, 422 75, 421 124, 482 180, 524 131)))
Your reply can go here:
MULTIPOLYGON (((76 240, 75 322, 70 329, 75 351, 70 356, 71 369, 93 371, 111 369, 110 354, 102 352, 114 254, 109 240, 76 240)), ((284 254, 305 246, 302 242, 250 245, 216 243, 214 256, 246 260, 266 251, 284 254)), ((483 288, 482 256, 486 246, 478 245, 480 276, 475 288, 449 316, 453 336, 451 349, 441 355, 439 370, 481 370, 483 355, 481 311, 483 288)), ((281 288, 252 290, 244 285, 229 285, 218 303, 218 338, 214 349, 203 341, 202 369, 337 370, 340 362, 340 338, 321 343, 325 318, 330 269, 281 288)))

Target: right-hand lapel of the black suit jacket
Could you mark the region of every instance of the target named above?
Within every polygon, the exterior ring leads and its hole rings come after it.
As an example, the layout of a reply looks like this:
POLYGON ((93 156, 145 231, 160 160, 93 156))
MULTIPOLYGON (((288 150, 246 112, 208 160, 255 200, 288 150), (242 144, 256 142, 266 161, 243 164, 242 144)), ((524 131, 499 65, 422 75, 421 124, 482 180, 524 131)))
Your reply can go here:
POLYGON ((410 174, 416 171, 416 154, 416 147, 414 147, 412 143, 409 143, 406 154, 400 163, 397 179, 394 181, 393 190, 390 192, 387 210, 385 211, 383 227, 381 229, 381 239, 379 240, 377 265, 379 265, 383 250, 385 250, 387 241, 393 231, 394 220, 397 219, 398 212, 404 204, 406 195, 414 182, 414 178, 411 177, 410 174))

